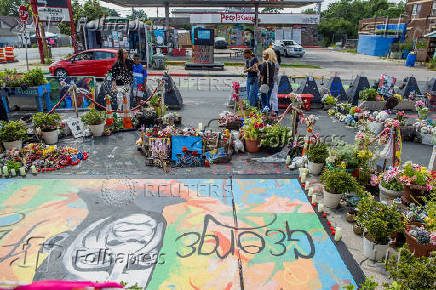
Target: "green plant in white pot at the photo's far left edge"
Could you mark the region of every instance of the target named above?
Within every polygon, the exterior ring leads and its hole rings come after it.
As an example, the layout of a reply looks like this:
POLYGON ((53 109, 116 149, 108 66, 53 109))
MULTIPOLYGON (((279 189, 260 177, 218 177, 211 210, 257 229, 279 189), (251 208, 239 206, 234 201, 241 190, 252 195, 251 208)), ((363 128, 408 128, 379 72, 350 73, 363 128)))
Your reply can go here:
POLYGON ((21 149, 26 137, 26 128, 20 121, 0 122, 0 142, 6 150, 21 149))

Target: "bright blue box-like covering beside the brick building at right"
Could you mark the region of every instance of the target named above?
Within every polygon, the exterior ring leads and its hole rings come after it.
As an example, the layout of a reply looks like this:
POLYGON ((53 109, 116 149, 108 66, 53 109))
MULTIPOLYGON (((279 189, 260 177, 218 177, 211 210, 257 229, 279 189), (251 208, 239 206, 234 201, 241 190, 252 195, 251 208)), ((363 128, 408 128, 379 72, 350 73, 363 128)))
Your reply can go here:
POLYGON ((359 44, 357 45, 357 53, 386 56, 389 52, 392 43, 396 42, 397 38, 381 35, 359 35, 359 44))

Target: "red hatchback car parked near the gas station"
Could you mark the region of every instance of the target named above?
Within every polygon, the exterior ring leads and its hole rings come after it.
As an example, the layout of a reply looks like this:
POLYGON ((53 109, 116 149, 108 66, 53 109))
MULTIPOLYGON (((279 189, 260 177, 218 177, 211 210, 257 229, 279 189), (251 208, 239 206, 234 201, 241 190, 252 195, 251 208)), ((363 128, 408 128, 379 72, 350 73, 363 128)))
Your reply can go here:
POLYGON ((54 62, 49 67, 50 74, 56 77, 94 76, 104 77, 117 60, 116 49, 88 49, 73 56, 54 62))

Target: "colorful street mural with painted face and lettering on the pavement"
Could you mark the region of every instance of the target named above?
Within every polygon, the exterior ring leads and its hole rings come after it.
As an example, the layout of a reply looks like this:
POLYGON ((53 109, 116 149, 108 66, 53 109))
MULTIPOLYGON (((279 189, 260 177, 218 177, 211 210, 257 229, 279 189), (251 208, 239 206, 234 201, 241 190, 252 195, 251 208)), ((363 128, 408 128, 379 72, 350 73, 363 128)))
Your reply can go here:
POLYGON ((356 285, 296 180, 0 180, 0 281, 38 280, 356 285))

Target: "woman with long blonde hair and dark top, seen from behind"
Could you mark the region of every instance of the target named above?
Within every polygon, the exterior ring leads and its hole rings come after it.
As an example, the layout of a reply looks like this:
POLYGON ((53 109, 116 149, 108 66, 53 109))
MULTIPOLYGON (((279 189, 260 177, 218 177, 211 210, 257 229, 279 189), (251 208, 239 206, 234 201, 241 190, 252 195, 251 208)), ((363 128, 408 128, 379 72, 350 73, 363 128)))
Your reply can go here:
POLYGON ((260 71, 260 93, 262 112, 270 111, 270 98, 274 87, 274 72, 277 58, 272 48, 263 51, 263 63, 259 66, 260 71))

